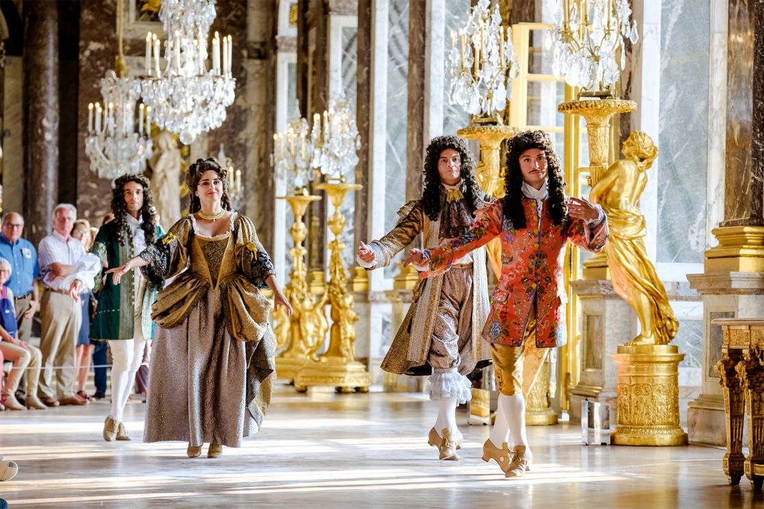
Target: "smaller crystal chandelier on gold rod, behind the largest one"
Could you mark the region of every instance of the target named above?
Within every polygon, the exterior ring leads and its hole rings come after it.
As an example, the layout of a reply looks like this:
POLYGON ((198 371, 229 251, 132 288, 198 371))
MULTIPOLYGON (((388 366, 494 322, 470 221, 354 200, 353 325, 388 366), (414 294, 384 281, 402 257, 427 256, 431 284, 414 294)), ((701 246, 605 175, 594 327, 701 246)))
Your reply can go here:
POLYGON ((151 157, 152 144, 151 109, 141 104, 136 119, 135 103, 141 86, 137 80, 126 76, 122 57, 122 0, 117 12, 117 72, 110 71, 101 79, 103 105, 100 102, 88 105, 88 135, 85 138, 90 169, 109 180, 125 173, 143 173, 146 160, 151 157))

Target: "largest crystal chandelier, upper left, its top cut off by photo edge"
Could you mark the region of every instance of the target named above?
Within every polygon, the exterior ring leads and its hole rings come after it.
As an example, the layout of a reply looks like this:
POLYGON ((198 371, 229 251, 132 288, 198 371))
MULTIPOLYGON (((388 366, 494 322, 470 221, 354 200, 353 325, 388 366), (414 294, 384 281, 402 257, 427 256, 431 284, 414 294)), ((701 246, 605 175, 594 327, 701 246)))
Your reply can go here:
POLYGON ((219 128, 234 102, 231 36, 212 38, 212 67, 206 60, 214 0, 163 0, 159 17, 167 42, 160 57, 157 34, 146 36, 141 96, 154 112, 154 123, 191 144, 199 133, 219 128), (222 54, 221 54, 222 53, 222 54), (165 60, 164 70, 160 60, 165 60))

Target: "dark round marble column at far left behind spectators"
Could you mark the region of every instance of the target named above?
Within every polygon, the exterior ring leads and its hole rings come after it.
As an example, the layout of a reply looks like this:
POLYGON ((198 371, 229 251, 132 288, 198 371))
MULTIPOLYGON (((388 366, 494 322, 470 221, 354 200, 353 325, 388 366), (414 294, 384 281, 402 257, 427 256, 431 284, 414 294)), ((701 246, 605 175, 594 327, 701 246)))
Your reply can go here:
POLYGON ((58 11, 46 2, 24 5, 24 236, 37 245, 51 231, 58 202, 58 11))

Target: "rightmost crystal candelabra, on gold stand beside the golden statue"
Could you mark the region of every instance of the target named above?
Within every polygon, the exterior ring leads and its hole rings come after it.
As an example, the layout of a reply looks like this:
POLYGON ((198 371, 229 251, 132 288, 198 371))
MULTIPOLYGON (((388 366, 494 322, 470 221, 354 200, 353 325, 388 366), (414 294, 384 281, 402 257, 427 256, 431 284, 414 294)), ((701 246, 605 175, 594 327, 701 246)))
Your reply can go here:
POLYGON ((558 1, 551 30, 552 72, 579 87, 581 96, 615 96, 613 84, 626 66, 623 41, 636 44, 629 0, 558 1), (617 61, 618 60, 618 61, 617 61))

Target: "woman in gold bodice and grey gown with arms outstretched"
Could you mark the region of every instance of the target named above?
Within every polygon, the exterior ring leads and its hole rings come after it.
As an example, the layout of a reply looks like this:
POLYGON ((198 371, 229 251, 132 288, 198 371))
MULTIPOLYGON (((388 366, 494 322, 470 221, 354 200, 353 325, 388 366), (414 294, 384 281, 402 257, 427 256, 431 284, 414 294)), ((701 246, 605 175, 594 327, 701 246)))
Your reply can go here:
POLYGON ((251 219, 231 211, 226 170, 214 159, 196 161, 186 183, 189 216, 122 267, 115 284, 141 267, 160 291, 151 318, 160 326, 151 355, 145 442, 182 440, 188 456, 219 457, 259 430, 270 404, 275 337, 270 303, 292 308, 257 240, 251 219), (187 268, 186 268, 187 267, 187 268))

